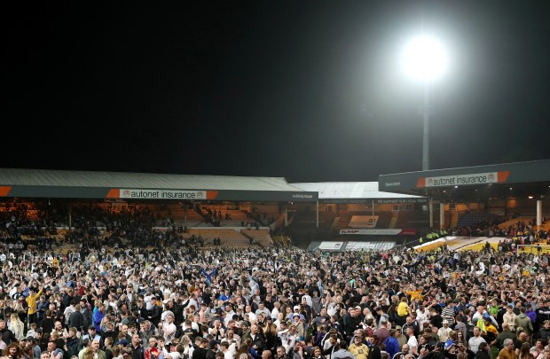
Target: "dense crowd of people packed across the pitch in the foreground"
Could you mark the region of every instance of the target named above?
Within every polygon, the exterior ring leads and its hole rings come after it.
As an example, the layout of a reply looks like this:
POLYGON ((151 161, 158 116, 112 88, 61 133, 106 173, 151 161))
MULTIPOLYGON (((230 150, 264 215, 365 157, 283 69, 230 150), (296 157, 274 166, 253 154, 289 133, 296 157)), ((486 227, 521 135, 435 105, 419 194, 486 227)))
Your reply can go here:
POLYGON ((548 254, 86 248, 0 258, 6 358, 550 358, 548 254))

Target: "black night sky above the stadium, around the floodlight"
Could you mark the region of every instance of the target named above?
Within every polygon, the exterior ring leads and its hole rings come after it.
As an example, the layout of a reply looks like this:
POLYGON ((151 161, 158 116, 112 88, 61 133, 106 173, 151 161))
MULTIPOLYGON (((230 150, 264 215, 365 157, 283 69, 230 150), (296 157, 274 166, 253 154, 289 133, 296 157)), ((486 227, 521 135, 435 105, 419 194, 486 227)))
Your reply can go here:
POLYGON ((421 84, 397 59, 422 23, 451 58, 432 86, 431 168, 550 158, 546 0, 97 3, 4 8, 0 167, 420 170, 421 84))

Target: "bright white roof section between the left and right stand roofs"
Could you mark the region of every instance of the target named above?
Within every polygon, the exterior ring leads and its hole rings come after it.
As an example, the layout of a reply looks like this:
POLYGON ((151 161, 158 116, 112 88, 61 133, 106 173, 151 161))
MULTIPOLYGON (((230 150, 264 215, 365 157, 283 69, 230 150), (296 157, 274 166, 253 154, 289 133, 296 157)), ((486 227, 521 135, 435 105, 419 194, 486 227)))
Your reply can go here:
POLYGON ((378 191, 378 182, 321 182, 291 183, 303 191, 318 192, 319 202, 323 203, 365 203, 374 200, 376 203, 426 201, 422 196, 378 191))

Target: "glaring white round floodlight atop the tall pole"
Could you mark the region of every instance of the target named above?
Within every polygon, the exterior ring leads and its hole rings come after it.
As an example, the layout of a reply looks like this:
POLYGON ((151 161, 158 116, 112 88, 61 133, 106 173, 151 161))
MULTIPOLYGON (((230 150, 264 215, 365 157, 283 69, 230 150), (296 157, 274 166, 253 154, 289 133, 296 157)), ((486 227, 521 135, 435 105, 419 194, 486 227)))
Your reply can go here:
POLYGON ((433 81, 447 69, 444 46, 435 38, 421 35, 405 45, 403 51, 405 72, 420 81, 433 81))

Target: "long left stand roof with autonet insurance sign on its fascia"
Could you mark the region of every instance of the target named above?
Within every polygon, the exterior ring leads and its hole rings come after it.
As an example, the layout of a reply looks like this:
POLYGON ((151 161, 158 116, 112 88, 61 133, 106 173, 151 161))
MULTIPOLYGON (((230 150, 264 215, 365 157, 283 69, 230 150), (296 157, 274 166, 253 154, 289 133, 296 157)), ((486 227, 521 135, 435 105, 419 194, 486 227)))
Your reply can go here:
POLYGON ((164 175, 0 168, 0 197, 315 202, 282 177, 164 175))

